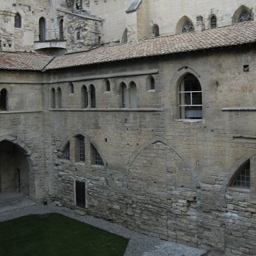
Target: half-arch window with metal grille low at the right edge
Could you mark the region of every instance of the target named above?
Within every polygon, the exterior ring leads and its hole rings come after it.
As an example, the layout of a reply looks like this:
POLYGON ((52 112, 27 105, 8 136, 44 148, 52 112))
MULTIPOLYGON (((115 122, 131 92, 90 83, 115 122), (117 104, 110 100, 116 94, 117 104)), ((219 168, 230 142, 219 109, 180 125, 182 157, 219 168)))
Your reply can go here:
POLYGON ((236 176, 232 181, 232 187, 251 187, 250 160, 245 162, 245 164, 239 168, 238 172, 236 172, 236 176))

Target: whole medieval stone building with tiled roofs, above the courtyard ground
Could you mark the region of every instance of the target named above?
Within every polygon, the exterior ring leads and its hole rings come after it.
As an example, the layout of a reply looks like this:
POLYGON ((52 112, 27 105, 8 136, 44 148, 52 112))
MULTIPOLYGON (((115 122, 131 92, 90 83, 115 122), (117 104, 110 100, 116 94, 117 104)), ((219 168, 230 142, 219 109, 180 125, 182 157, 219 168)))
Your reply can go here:
POLYGON ((0 193, 255 255, 254 0, 0 2, 0 193))

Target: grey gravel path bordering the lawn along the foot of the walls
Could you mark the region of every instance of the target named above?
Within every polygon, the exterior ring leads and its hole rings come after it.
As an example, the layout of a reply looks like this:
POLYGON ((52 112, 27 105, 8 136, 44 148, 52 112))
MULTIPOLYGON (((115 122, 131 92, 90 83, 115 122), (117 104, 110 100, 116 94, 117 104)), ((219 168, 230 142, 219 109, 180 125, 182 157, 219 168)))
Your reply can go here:
POLYGON ((91 224, 108 232, 118 234, 125 238, 129 238, 129 245, 124 256, 196 256, 204 255, 205 251, 187 247, 177 243, 169 243, 158 238, 134 232, 123 226, 119 226, 112 222, 94 218, 92 216, 80 216, 75 214, 73 210, 65 207, 57 207, 55 205, 30 205, 27 207, 18 208, 9 212, 0 213, 0 222, 11 220, 21 216, 30 214, 63 214, 69 218, 91 224))

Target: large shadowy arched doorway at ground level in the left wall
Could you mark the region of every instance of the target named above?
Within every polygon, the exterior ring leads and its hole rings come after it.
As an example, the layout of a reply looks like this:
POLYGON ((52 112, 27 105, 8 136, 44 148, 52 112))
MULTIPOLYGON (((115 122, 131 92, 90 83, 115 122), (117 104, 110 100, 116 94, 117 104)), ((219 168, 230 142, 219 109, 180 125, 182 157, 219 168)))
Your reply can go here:
POLYGON ((30 195, 29 164, 24 150, 10 141, 0 142, 0 193, 30 195))

